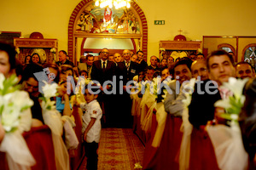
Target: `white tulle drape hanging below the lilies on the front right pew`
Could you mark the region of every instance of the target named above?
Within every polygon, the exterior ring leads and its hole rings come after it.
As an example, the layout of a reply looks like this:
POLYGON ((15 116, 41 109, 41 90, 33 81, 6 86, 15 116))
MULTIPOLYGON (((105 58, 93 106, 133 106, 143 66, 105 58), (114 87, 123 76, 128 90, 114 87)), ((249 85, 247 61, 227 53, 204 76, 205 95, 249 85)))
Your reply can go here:
POLYGON ((247 169, 248 155, 241 139, 241 130, 237 123, 231 126, 215 125, 208 127, 208 134, 221 170, 247 169))

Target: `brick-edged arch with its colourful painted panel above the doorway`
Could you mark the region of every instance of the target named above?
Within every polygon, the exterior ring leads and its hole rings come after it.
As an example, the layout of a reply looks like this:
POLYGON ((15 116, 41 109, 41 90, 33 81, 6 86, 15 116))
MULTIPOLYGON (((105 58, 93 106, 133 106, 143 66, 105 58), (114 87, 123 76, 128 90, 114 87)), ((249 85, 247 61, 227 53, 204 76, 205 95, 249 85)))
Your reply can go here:
POLYGON ((68 23, 67 53, 74 63, 77 56, 77 38, 131 38, 137 39, 138 48, 148 54, 148 24, 143 10, 131 2, 131 8, 99 8, 93 0, 83 0, 70 16, 68 23))

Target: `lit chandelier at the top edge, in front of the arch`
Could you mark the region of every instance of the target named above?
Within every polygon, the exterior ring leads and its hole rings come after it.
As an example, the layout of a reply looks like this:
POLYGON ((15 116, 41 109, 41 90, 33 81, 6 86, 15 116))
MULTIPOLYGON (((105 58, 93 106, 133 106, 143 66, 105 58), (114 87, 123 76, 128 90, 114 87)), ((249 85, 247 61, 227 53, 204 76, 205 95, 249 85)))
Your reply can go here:
POLYGON ((130 8, 131 0, 95 0, 95 5, 100 6, 101 8, 130 8))

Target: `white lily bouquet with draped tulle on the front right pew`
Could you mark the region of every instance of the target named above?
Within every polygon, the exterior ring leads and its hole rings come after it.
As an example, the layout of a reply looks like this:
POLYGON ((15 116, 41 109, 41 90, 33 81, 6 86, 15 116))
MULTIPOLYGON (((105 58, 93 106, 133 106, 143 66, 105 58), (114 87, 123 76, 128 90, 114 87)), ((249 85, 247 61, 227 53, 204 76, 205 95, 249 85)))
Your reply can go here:
POLYGON ((230 77, 229 82, 224 82, 220 88, 227 88, 233 95, 214 104, 215 107, 224 108, 225 112, 221 116, 230 121, 230 127, 222 124, 208 127, 220 169, 247 169, 248 156, 242 144, 238 124, 238 116, 245 101, 242 91, 246 82, 247 79, 230 77))

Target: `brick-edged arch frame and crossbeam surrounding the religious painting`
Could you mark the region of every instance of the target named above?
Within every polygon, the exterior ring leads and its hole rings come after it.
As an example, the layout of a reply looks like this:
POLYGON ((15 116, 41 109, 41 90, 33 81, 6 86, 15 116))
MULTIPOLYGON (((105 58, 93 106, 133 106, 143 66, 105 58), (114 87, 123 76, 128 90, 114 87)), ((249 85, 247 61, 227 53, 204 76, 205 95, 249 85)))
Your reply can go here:
MULTIPOLYGON (((116 33, 118 27, 115 29, 114 32, 110 31, 102 31, 102 29, 99 29, 100 31, 90 30, 90 28, 81 28, 80 31, 77 30, 78 22, 80 20, 81 15, 88 16, 90 11, 88 11, 88 8, 90 9, 94 7, 94 1, 93 0, 83 0, 81 1, 76 8, 74 8, 73 13, 70 16, 69 24, 68 24, 68 49, 67 53, 70 57, 70 59, 73 60, 74 63, 77 61, 77 38, 78 37, 105 37, 105 38, 133 38, 137 39, 138 42, 138 49, 142 50, 144 53, 144 59, 147 60, 147 54, 148 54, 148 24, 146 17, 143 13, 143 10, 135 3, 134 1, 131 2, 131 8, 127 9, 125 8, 125 14, 134 14, 135 17, 137 17, 137 23, 140 28, 139 33, 133 33, 133 32, 122 32, 122 33, 116 33), (87 30, 86 30, 87 29, 87 30)), ((95 21, 95 24, 99 24, 99 21, 96 21, 96 15, 90 14, 90 17, 93 21, 95 21)), ((122 15, 119 17, 119 20, 125 20, 124 16, 122 15)), ((102 21, 102 20, 100 20, 102 21)), ((105 21, 105 20, 104 20, 105 21)), ((127 20, 129 22, 131 20, 127 20)), ((118 21, 117 25, 119 26, 120 21, 118 21)), ((131 26, 131 24, 130 24, 131 26)), ((134 31, 132 29, 131 31, 134 31)), ((137 49, 137 50, 138 50, 137 49)))

